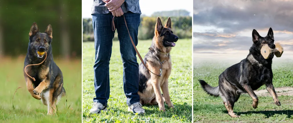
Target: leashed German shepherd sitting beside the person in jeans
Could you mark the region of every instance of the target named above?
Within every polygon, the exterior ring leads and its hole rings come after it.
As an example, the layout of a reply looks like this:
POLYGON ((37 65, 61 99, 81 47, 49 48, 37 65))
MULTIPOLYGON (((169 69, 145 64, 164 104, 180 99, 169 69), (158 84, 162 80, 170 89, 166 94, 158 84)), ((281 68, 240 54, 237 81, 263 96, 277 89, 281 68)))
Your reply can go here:
POLYGON ((164 106, 163 95, 166 104, 173 108, 170 100, 168 90, 168 78, 171 74, 172 63, 170 58, 170 51, 178 41, 178 36, 174 35, 171 30, 171 18, 169 17, 166 25, 163 27, 161 19, 157 19, 155 26, 155 36, 152 40, 149 52, 144 57, 144 62, 150 71, 161 76, 150 73, 146 67, 141 63, 139 64, 139 97, 141 104, 158 104, 159 110, 166 111, 164 106), (163 63, 162 63, 163 62, 163 63), (163 69, 160 68, 161 66, 163 69), (161 90, 163 95, 161 94, 161 90))

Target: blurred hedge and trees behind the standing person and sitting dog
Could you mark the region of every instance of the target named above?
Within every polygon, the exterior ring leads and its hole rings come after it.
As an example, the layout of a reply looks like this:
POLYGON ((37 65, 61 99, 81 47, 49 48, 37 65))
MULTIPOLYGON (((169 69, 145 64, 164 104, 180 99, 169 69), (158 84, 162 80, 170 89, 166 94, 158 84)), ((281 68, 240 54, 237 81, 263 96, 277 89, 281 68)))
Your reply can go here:
MULTIPOLYGON (((155 24, 160 17, 163 25, 166 24, 168 17, 172 20, 172 30, 180 39, 192 37, 192 17, 186 10, 173 10, 154 12, 151 16, 141 15, 138 30, 138 39, 147 40, 154 37, 155 24)), ((93 24, 91 18, 83 18, 83 41, 94 41, 93 24)), ((113 40, 118 40, 115 33, 113 40)))

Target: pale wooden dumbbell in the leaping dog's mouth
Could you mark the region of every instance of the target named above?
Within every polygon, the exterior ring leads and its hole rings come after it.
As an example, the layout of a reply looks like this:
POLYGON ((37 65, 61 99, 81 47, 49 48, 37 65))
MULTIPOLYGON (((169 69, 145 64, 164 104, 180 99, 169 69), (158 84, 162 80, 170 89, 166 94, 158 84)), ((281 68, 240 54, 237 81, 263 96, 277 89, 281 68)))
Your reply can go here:
POLYGON ((260 49, 260 53, 263 55, 263 57, 265 59, 268 59, 270 57, 270 55, 272 53, 275 53, 276 57, 281 57, 284 49, 283 47, 280 45, 280 43, 276 43, 276 48, 275 49, 271 49, 268 44, 265 44, 261 49, 260 49))

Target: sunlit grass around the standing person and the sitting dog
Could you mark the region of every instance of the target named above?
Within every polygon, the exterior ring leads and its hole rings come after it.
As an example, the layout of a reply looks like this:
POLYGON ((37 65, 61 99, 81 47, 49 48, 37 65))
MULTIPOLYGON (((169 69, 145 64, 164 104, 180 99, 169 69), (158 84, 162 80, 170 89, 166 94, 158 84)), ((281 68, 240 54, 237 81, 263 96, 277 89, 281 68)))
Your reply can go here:
MULTIPOLYGON (((137 49, 142 57, 147 53, 151 40, 139 40, 137 49)), ((143 106, 144 115, 127 112, 123 93, 122 60, 119 42, 114 41, 110 61, 110 99, 108 111, 101 114, 89 114, 94 94, 93 64, 95 49, 93 42, 83 43, 83 122, 191 122, 192 119, 192 41, 182 39, 171 51, 172 72, 169 77, 169 92, 175 109, 165 104, 166 112, 159 112, 159 107, 143 106)), ((138 58, 137 58, 138 59, 138 58)), ((140 63, 140 60, 137 61, 140 63)))

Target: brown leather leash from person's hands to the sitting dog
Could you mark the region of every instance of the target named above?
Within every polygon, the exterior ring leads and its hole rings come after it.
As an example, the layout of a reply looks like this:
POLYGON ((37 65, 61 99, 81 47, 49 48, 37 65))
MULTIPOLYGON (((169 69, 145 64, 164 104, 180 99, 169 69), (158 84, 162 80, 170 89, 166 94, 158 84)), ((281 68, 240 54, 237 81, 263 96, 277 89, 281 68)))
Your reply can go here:
MULTIPOLYGON (((115 16, 114 16, 113 19, 112 19, 112 31, 115 31, 115 29, 116 29, 116 28, 115 28, 115 23, 114 23, 114 18, 115 18, 115 16)), ((135 52, 137 53, 137 55, 138 55, 140 61, 142 61, 142 64, 147 68, 147 65, 144 63, 144 60, 143 60, 142 57, 140 56, 140 54, 139 54, 139 52, 138 52, 138 50, 137 50, 137 48, 136 48, 136 46, 135 46, 135 44, 134 44, 134 42, 133 42, 133 40, 132 40, 132 37, 131 37, 131 35, 130 35, 130 33, 129 33, 129 29, 128 29, 128 27, 127 27, 127 23, 126 23, 126 19, 125 19, 125 16, 124 16, 124 15, 123 15, 123 18, 124 18, 125 26, 126 26, 126 28, 127 28, 127 31, 128 31, 129 37, 130 37, 130 40, 131 40, 132 45, 133 45, 133 47, 134 47, 134 49, 135 49, 135 52)), ((155 74, 155 75, 157 75, 157 76, 162 76, 162 69, 163 69, 162 64, 163 64, 163 62, 160 62, 160 64, 161 64, 161 68, 160 68, 160 72, 161 72, 161 73, 160 73, 160 75, 153 73, 152 71, 149 70, 149 68, 147 68, 147 70, 148 70, 149 72, 151 72, 152 74, 155 74)))

